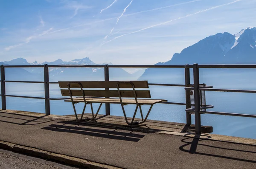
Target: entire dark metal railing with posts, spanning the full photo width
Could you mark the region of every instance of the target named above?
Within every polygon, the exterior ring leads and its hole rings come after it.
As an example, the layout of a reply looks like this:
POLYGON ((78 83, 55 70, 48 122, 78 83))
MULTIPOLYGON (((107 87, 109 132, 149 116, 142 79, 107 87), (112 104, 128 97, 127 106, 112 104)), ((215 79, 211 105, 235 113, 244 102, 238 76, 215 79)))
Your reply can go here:
MULTIPOLYGON (((217 114, 217 115, 232 115, 241 117, 256 118, 256 115, 250 114, 239 114, 239 113, 225 113, 225 112, 214 112, 214 111, 201 111, 202 108, 212 108, 213 106, 200 105, 200 91, 225 91, 225 92, 243 92, 243 93, 256 93, 256 90, 234 90, 234 89, 215 89, 207 88, 207 86, 199 83, 199 68, 256 68, 256 65, 1 65, 0 76, 1 76, 1 98, 2 98, 2 110, 6 110, 6 97, 20 97, 29 99, 44 99, 45 100, 45 114, 50 115, 50 100, 63 100, 70 98, 50 98, 49 97, 49 84, 58 84, 58 82, 49 82, 49 68, 104 68, 104 80, 109 81, 109 68, 183 68, 185 70, 185 84, 158 84, 149 83, 148 85, 155 86, 173 86, 173 87, 185 87, 186 90, 186 103, 177 102, 163 102, 163 104, 176 104, 186 106, 186 124, 192 124, 191 113, 195 114, 195 131, 197 134, 201 134, 201 114, 217 114), (5 68, 44 68, 44 82, 37 81, 11 81, 5 80, 5 68), (193 68, 193 81, 194 84, 190 83, 190 68, 193 68), (15 96, 6 95, 5 83, 39 83, 44 84, 44 97, 33 97, 33 96, 15 96), (194 90, 194 103, 190 101, 190 90, 194 90), (191 108, 194 106, 195 108, 191 108)), ((105 90, 108 90, 106 88, 105 90)), ((105 104, 105 114, 110 115, 110 105, 105 104)))

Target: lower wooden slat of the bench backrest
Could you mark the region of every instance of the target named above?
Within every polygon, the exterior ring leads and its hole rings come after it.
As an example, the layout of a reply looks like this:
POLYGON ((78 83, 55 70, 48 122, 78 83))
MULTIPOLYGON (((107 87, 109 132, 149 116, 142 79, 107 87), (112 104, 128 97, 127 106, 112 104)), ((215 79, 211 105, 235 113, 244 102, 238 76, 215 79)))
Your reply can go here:
MULTIPOLYGON (((119 97, 117 90, 83 90, 84 96, 119 97)), ((133 90, 120 90, 122 97, 133 97, 133 90)), ((70 96, 67 89, 61 89, 62 96, 70 96)), ((71 90, 72 96, 82 96, 81 90, 71 90)), ((149 90, 136 90, 137 98, 151 98, 149 90)))

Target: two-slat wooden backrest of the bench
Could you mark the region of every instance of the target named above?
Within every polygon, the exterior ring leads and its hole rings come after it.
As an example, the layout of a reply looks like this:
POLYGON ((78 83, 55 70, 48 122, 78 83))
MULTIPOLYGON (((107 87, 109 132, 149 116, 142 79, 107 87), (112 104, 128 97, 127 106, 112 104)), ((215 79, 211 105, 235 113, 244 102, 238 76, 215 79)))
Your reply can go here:
MULTIPOLYGON (((60 88, 79 88, 71 89, 72 96, 87 96, 87 97, 119 97, 118 90, 106 90, 117 88, 117 84, 124 81, 83 81, 83 82, 58 82, 60 88), (80 85, 81 86, 80 86, 80 85), (104 88, 105 90, 84 90, 82 88, 104 88)), ((148 81, 128 81, 134 85, 135 88, 148 88, 148 81)), ((119 88, 132 89, 133 86, 130 83, 120 83, 119 88)), ((151 98, 149 90, 135 90, 137 98, 151 98)), ((121 97, 134 98, 133 90, 120 90, 121 97)), ((62 96, 70 96, 68 89, 61 89, 62 96)))

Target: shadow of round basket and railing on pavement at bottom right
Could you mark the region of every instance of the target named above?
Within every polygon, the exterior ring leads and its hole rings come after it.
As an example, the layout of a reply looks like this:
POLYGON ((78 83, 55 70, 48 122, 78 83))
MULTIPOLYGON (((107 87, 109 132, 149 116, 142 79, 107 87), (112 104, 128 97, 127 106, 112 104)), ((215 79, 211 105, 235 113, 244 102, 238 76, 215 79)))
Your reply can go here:
MULTIPOLYGON (((185 135, 186 136, 186 135, 185 135)), ((205 141, 209 138, 210 136, 204 135, 204 137, 207 138, 199 138, 200 135, 197 135, 196 138, 183 138, 181 139, 181 142, 185 143, 184 145, 180 146, 179 149, 183 152, 188 152, 190 154, 196 154, 196 155, 206 155, 206 156, 211 156, 211 157, 217 157, 217 158, 224 158, 224 159, 230 159, 230 160, 236 160, 236 161, 244 161, 244 162, 249 162, 249 163, 256 163, 256 146, 252 146, 252 150, 254 151, 248 151, 248 150, 243 150, 243 149, 238 149, 238 146, 236 145, 244 145, 241 143, 234 143, 234 142, 229 142, 229 141, 218 141, 222 143, 230 143, 233 144, 232 148, 230 146, 213 146, 209 144, 202 143, 202 141, 205 141), (199 146, 206 146, 209 149, 212 149, 213 151, 207 151, 207 152, 201 152, 197 151, 199 146), (242 158, 237 158, 237 157, 231 157, 230 156, 225 156, 225 155, 219 155, 218 151, 229 151, 232 152, 233 155, 237 153, 244 153, 243 157, 246 157, 247 159, 242 159, 242 158)), ((208 140, 209 141, 209 140, 208 140)))

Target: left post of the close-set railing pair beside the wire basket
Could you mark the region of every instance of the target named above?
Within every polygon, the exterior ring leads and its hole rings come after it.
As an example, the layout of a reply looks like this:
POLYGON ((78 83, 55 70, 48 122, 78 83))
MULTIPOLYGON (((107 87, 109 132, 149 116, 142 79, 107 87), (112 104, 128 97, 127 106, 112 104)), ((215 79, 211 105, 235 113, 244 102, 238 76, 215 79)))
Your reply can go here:
MULTIPOLYGON (((186 87, 190 87, 190 72, 189 68, 185 67, 185 85, 186 87)), ((186 90, 186 109, 191 108, 191 101, 190 101, 190 90, 186 90)), ((186 124, 191 124, 191 114, 186 112, 186 124)))

